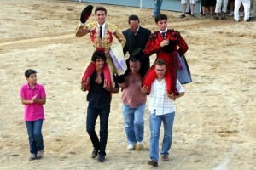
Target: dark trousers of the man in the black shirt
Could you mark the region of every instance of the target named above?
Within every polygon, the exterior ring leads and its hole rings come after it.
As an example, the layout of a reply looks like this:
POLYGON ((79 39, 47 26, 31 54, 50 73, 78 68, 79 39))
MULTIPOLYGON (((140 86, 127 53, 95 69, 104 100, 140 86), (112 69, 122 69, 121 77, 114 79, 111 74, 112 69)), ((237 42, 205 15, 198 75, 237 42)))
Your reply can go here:
POLYGON ((108 139, 108 116, 110 103, 104 105, 90 105, 87 108, 86 131, 90 136, 91 143, 99 154, 106 156, 106 145, 108 139), (95 132, 97 117, 100 116, 100 139, 95 132))

